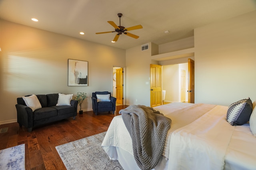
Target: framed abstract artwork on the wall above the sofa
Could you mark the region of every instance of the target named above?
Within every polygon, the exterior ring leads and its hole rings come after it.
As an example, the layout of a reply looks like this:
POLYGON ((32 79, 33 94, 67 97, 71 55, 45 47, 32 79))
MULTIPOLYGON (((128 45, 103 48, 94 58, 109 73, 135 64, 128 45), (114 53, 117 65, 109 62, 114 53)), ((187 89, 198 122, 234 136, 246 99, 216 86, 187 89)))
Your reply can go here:
POLYGON ((68 59, 68 86, 88 86, 88 61, 68 59))

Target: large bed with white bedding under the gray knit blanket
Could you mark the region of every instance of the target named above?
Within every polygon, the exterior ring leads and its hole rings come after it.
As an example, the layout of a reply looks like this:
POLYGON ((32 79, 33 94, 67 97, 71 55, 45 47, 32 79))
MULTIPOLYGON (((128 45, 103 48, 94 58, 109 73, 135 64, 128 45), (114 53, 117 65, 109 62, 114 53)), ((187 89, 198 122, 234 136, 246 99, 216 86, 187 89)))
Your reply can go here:
MULTIPOLYGON (((256 137, 249 123, 232 126, 227 122, 228 106, 172 103, 154 109, 172 120, 154 170, 256 169, 256 137)), ((140 170, 122 115, 113 118, 102 148, 124 170, 140 170)))

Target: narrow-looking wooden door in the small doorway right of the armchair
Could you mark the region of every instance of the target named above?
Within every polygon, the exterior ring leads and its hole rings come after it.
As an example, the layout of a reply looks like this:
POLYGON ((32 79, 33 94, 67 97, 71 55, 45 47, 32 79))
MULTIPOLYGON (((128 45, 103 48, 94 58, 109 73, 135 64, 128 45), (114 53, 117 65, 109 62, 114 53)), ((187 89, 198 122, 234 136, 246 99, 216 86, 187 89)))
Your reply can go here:
POLYGON ((116 69, 116 103, 123 104, 123 68, 116 69))

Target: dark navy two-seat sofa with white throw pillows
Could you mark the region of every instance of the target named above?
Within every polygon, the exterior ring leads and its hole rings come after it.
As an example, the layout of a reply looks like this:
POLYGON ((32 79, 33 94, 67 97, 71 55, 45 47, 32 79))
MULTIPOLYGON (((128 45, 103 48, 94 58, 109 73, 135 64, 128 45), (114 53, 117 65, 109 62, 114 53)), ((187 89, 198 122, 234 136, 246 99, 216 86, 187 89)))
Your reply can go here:
POLYGON ((30 107, 26 106, 23 98, 17 98, 17 104, 15 105, 17 110, 17 122, 20 127, 23 125, 28 128, 28 132, 31 132, 32 128, 36 126, 66 119, 68 117, 76 119, 77 100, 71 100, 71 106, 56 106, 58 103, 58 93, 39 94, 36 96, 42 106, 40 109, 32 111, 30 107))

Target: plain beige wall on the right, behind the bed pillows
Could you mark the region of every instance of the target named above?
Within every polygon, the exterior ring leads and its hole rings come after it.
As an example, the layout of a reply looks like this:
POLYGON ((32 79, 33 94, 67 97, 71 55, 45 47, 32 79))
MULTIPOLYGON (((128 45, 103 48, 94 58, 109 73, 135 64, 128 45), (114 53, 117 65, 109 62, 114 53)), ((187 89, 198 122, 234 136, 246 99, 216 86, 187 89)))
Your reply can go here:
POLYGON ((256 100, 256 11, 194 30, 195 102, 256 100))

